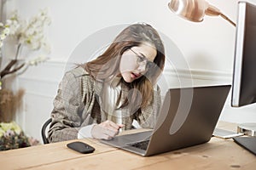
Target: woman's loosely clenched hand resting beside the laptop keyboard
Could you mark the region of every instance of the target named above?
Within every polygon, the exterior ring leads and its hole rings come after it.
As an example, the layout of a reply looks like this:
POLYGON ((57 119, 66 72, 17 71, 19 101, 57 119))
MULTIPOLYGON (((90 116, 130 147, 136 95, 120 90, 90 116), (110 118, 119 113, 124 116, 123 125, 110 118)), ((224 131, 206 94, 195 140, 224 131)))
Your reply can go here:
POLYGON ((113 139, 119 133, 119 128, 124 127, 124 125, 118 125, 111 121, 105 121, 100 124, 95 125, 91 129, 91 136, 95 139, 113 139))

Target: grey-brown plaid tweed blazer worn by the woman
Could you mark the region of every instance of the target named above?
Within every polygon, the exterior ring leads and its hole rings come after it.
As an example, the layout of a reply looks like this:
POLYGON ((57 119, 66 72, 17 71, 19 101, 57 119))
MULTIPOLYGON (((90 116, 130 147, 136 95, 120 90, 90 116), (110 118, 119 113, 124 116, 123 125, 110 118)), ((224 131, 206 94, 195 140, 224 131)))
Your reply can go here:
MULTIPOLYGON (((77 139, 81 127, 105 122, 108 113, 101 108, 102 82, 97 82, 82 67, 67 71, 61 80, 51 112, 49 142, 77 139)), ((121 101, 129 93, 129 87, 121 84, 121 101)), ((160 88, 154 90, 153 102, 144 109, 130 114, 121 109, 125 129, 131 129, 133 119, 141 127, 154 128, 160 110, 160 88)))

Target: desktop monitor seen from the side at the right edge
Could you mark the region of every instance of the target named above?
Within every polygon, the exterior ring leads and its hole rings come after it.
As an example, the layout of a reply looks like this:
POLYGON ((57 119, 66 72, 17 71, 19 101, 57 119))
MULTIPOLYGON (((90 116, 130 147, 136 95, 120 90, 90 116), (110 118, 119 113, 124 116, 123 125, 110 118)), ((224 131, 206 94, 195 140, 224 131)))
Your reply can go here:
POLYGON ((256 5, 238 3, 231 105, 256 102, 256 5))

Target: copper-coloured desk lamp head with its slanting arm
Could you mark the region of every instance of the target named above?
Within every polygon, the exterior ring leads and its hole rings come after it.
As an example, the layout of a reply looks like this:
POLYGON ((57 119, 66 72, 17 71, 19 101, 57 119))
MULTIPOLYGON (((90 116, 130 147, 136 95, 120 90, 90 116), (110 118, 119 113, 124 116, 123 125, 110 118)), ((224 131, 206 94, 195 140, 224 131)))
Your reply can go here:
POLYGON ((230 24, 236 26, 236 24, 222 14, 218 8, 207 3, 205 0, 171 0, 171 2, 168 3, 168 7, 173 13, 193 22, 201 22, 206 14, 210 16, 220 15, 225 20, 228 20, 230 24))

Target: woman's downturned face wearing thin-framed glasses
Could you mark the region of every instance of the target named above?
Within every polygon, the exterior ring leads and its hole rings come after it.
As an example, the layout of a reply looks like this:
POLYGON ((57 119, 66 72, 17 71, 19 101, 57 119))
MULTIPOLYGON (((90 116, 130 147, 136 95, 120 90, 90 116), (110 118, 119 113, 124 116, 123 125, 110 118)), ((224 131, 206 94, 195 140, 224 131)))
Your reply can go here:
POLYGON ((156 49, 147 43, 129 48, 121 56, 119 70, 125 82, 133 82, 142 77, 148 66, 153 65, 156 49))

